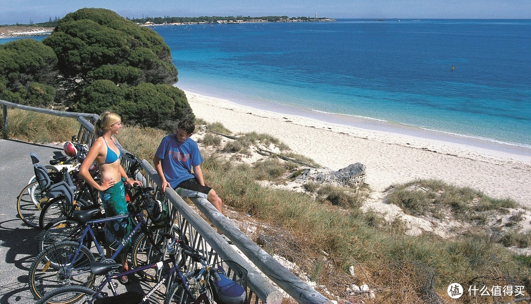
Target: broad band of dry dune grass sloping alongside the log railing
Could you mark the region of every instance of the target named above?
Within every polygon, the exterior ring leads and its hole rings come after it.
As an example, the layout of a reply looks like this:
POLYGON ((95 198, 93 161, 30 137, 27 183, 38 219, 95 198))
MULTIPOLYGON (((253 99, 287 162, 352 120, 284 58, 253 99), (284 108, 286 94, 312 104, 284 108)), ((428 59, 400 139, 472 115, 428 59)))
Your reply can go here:
MULTIPOLYGON (((326 204, 306 194, 259 186, 249 165, 209 158, 204 167, 207 180, 213 181, 225 204, 294 235, 296 244, 292 246, 301 248, 304 254, 292 257, 292 262, 306 265, 316 276, 312 280, 326 282, 328 288, 343 288, 342 281, 337 280, 338 271, 339 276, 348 277, 345 280, 352 280, 352 275, 347 275, 351 266, 359 268, 354 273, 354 282, 375 286, 397 303, 412 299, 432 302, 445 293, 451 282, 478 285, 518 282, 530 287, 527 278, 531 268, 523 265, 487 229, 472 230, 453 239, 432 233, 409 236, 400 220, 387 222, 378 214, 362 213, 358 208, 361 202, 349 202, 346 195, 336 193, 337 189, 306 186, 336 202, 326 204)), ((429 183, 445 186, 439 181, 429 183)), ((494 209, 508 206, 487 205, 494 209)), ((284 247, 270 249, 270 253, 282 255, 284 247)))

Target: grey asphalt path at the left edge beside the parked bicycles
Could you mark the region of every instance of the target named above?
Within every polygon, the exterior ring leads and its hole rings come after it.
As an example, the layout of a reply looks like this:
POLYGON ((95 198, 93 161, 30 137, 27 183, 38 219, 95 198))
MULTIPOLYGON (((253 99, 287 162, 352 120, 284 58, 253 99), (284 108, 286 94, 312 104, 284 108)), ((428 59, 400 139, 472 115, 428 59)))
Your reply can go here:
MULTIPOLYGON (((35 237, 40 232, 18 218, 16 198, 33 176, 29 153, 35 152, 48 164, 62 147, 0 140, 0 303, 35 303, 29 291, 28 271, 39 254, 35 237)), ((122 286, 122 285, 120 285, 122 286)), ((127 289, 147 288, 134 280, 127 289)), ((125 287, 119 288, 125 292, 125 287)), ((159 298, 160 299, 160 298, 159 298)))

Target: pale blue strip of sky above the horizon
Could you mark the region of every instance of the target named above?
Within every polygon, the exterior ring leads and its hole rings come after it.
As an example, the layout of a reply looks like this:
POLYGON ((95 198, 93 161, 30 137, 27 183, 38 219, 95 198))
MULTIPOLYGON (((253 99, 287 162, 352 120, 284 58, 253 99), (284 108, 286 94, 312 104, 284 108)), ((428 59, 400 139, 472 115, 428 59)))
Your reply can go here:
POLYGON ((48 21, 82 7, 124 17, 267 16, 531 19, 531 0, 0 0, 0 24, 48 21))

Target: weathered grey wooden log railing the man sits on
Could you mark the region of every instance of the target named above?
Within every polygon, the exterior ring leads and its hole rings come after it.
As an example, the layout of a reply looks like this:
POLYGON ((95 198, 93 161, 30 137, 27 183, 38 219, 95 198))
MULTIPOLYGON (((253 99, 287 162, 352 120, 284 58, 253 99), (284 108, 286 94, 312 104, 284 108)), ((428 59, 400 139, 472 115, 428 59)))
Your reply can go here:
MULTIPOLYGON (((3 100, 0 100, 0 103, 4 108, 4 128, 7 128, 6 108, 7 106, 10 106, 56 116, 75 117, 81 125, 78 133, 78 140, 80 143, 88 144, 90 146, 95 140, 95 136, 92 132, 93 124, 85 117, 92 121, 96 121, 99 117, 98 115, 33 108, 16 105, 3 100)), ((4 134, 6 134, 6 132, 4 134)), ((128 151, 119 145, 119 143, 118 147, 121 150, 122 155, 126 155, 128 151)), ((131 164, 131 160, 125 156, 122 158, 122 164, 127 169, 131 164)), ((157 188, 157 185, 160 184, 160 178, 156 170, 146 160, 142 160, 142 170, 138 173, 137 179, 142 180, 144 185, 149 185, 153 188, 157 188)), ((237 253, 232 246, 227 244, 227 242, 212 228, 212 225, 196 213, 190 205, 184 202, 174 189, 167 187, 166 192, 164 193, 164 198, 167 200, 166 202, 171 203, 170 206, 172 206, 172 212, 175 216, 174 223, 189 239, 191 246, 203 250, 204 253, 208 253, 210 263, 216 263, 220 260, 234 261, 247 270, 247 302, 259 303, 261 301, 263 303, 280 303, 282 301, 282 293, 265 279, 262 275, 263 273, 299 303, 330 303, 330 300, 322 296, 319 292, 316 292, 311 286, 303 282, 299 277, 282 266, 275 258, 271 257, 267 252, 256 245, 230 220, 219 213, 215 207, 207 201, 207 199, 192 198, 191 201, 201 211, 205 218, 207 218, 218 231, 224 233, 225 236, 227 236, 260 271, 256 270, 256 268, 247 262, 242 255, 237 253)), ((230 262, 228 262, 227 265, 230 266, 230 262)))

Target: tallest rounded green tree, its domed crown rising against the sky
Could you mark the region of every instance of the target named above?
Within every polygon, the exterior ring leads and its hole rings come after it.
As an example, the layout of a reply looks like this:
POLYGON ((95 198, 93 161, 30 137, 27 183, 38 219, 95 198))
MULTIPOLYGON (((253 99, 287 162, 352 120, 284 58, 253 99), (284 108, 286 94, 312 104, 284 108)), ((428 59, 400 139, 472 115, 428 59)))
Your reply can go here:
POLYGON ((62 85, 73 102, 96 80, 117 85, 177 81, 164 39, 110 10, 82 8, 67 14, 42 42, 57 54, 62 85))

